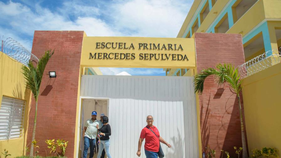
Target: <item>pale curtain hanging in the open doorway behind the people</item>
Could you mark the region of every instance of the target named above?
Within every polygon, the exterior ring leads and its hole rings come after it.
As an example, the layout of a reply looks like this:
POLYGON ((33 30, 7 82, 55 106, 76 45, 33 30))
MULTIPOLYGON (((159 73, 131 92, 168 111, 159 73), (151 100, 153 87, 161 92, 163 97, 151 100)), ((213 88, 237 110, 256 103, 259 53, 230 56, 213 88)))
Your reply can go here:
MULTIPOLYGON (((97 120, 100 120, 100 114, 104 113, 106 116, 108 115, 108 106, 107 100, 95 100, 95 99, 83 99, 82 102, 82 111, 81 111, 81 133, 80 133, 80 150, 81 150, 81 157, 83 157, 83 150, 84 150, 84 141, 83 141, 83 129, 84 124, 87 119, 92 118, 92 112, 97 112, 97 120)), ((88 153, 90 149, 88 150, 88 153)))

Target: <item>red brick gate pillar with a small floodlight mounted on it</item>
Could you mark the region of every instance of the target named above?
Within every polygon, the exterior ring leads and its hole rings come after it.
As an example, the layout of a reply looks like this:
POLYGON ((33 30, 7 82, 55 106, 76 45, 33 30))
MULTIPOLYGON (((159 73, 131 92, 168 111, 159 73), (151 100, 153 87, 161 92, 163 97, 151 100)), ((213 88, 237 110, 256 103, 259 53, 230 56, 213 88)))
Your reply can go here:
MULTIPOLYGON (((83 31, 35 31, 32 53, 38 58, 45 50, 55 50, 48 62, 40 87, 35 140, 40 140, 39 155, 49 151, 46 139, 69 142, 66 156, 73 157, 77 107, 78 78, 83 31), (49 78, 56 71, 56 78, 49 78)), ((27 144, 31 142, 35 114, 35 101, 29 116, 27 144)))

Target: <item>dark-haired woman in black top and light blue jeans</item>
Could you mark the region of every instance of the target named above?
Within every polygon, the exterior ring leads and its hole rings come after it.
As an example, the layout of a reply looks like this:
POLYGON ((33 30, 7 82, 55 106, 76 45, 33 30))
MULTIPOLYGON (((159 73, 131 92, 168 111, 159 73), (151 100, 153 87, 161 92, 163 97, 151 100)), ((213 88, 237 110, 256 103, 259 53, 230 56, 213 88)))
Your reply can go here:
POLYGON ((110 125, 108 124, 108 117, 103 116, 103 127, 99 129, 99 136, 100 136, 100 144, 98 148, 98 158, 101 156, 103 149, 105 150, 105 154, 108 158, 111 158, 111 155, 109 153, 109 135, 111 135, 111 128, 110 125))

